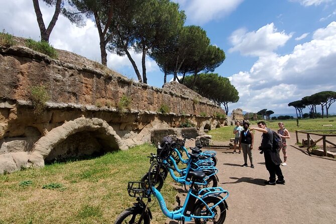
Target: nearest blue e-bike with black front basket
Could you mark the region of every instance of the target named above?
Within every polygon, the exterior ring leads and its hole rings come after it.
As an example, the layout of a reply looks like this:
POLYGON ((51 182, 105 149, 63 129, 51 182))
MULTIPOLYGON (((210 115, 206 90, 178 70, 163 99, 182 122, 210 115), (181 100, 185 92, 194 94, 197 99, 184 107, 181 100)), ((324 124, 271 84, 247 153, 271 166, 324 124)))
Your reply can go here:
MULTIPOLYGON (((154 170, 156 167, 155 160, 160 159, 155 157, 148 173, 159 172, 154 170)), ((115 224, 134 223, 134 224, 149 224, 152 219, 152 213, 149 203, 151 197, 154 196, 160 205, 163 214, 171 219, 179 220, 184 224, 185 221, 194 220, 196 224, 216 223, 222 224, 226 219, 228 204, 226 199, 229 196, 227 190, 221 187, 198 189, 194 184, 197 181, 202 181, 205 174, 199 170, 190 171, 191 184, 186 195, 183 205, 179 205, 173 210, 168 210, 165 200, 155 186, 147 187, 145 182, 129 182, 128 192, 132 197, 137 197, 137 203, 133 207, 124 210, 116 219, 115 224), (147 202, 143 200, 147 198, 147 202)), ((151 175, 149 175, 151 176, 151 175)))

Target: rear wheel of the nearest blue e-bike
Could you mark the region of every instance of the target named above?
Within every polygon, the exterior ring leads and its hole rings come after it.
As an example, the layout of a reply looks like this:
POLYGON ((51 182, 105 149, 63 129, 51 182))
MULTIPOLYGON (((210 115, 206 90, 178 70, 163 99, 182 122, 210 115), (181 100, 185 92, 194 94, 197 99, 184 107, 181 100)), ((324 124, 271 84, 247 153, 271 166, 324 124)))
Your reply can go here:
MULTIPOLYGON (((204 198, 204 202, 209 207, 213 206, 219 201, 220 201, 220 198, 218 197, 210 196, 210 197, 204 198)), ((222 224, 225 221, 225 218, 227 217, 227 207, 224 201, 222 201, 216 207, 214 207, 212 211, 215 213, 213 218, 195 218, 195 223, 196 224, 205 224, 205 223, 222 224)), ((209 215, 210 213, 211 213, 210 210, 205 206, 203 202, 201 201, 196 202, 196 206, 194 209, 194 215, 206 216, 206 215, 209 215)))

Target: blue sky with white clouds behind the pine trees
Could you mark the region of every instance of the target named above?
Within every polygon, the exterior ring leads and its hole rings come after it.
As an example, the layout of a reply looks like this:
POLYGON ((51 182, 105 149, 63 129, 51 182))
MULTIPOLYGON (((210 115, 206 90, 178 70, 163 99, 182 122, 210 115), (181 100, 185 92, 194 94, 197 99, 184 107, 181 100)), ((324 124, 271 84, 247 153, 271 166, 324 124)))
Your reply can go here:
MULTIPOLYGON (((48 25, 54 9, 39 2, 48 25)), ((289 102, 320 91, 336 91, 336 0, 173 2, 185 11, 186 26, 200 26, 210 44, 225 51, 226 59, 214 73, 228 77, 239 92, 239 101, 229 104, 229 114, 236 108, 295 114, 289 102)), ((40 40, 32 1, 0 0, 0 29, 40 40)), ((100 62, 98 32, 90 20, 78 28, 60 15, 49 42, 100 62)), ((132 51, 132 56, 141 73, 141 55, 132 51)), ((107 66, 137 80, 127 57, 108 52, 107 66)), ((148 84, 162 87, 163 73, 149 57, 146 69, 148 84)), ((316 109, 321 111, 320 106, 316 109)), ((336 113, 336 102, 329 108, 332 113, 336 113)))

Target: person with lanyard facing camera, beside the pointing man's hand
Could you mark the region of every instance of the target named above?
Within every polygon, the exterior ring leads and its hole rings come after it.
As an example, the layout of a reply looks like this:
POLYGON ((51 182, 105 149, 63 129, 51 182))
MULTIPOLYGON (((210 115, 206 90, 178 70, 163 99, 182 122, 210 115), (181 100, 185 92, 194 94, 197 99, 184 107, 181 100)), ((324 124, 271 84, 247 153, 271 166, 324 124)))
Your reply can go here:
POLYGON ((247 166, 247 155, 249 155, 251 168, 254 168, 253 165, 253 157, 252 157, 252 149, 254 143, 253 133, 249 130, 250 124, 243 123, 244 130, 241 131, 241 137, 239 140, 239 148, 242 148, 244 155, 244 164, 242 166, 247 166))

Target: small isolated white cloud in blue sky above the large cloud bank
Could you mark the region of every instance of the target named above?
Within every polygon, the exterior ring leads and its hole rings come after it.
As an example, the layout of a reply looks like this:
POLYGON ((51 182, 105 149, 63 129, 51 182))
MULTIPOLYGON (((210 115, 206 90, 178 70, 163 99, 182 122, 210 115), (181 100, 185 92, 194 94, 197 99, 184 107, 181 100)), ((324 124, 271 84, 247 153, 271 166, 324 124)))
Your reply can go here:
POLYGON ((242 28, 230 36, 229 41, 234 47, 230 48, 229 52, 239 51, 242 55, 266 56, 285 45, 291 37, 292 34, 277 32, 273 23, 249 33, 242 28))

